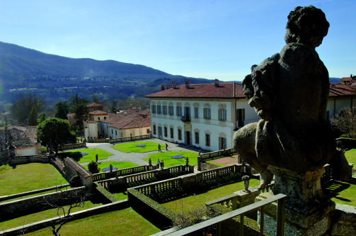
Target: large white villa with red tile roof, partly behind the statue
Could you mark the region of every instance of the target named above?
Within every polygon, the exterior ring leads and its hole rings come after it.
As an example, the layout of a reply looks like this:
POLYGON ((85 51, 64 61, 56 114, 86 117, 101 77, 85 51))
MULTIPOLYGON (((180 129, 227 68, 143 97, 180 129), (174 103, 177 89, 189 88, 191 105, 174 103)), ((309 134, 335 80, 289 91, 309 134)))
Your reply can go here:
MULTIPOLYGON (((166 88, 166 89, 165 89, 166 88)), ((146 96, 151 105, 152 136, 161 140, 196 146, 203 150, 232 148, 236 130, 260 118, 249 106, 238 83, 190 84, 146 96)), ((351 86, 330 86, 327 113, 333 118, 344 107, 352 107, 355 92, 351 86)))

